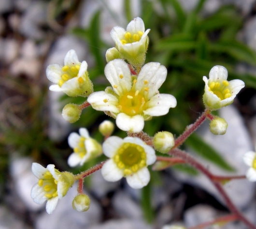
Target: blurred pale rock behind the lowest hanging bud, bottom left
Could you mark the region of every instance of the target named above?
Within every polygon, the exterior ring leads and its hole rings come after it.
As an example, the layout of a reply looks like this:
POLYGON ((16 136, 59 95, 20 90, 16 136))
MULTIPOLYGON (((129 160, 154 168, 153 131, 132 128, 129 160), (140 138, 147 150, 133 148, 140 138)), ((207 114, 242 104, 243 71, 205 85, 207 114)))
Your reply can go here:
POLYGON ((101 219, 100 205, 89 195, 90 208, 86 212, 78 212, 72 208, 72 201, 77 194, 77 184, 68 191, 67 195, 58 201, 53 214, 43 212, 36 221, 35 229, 88 229, 101 219))

